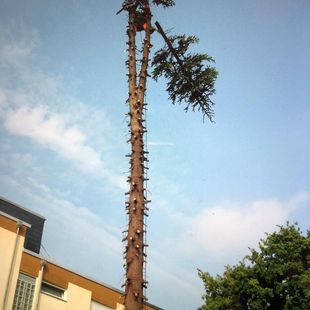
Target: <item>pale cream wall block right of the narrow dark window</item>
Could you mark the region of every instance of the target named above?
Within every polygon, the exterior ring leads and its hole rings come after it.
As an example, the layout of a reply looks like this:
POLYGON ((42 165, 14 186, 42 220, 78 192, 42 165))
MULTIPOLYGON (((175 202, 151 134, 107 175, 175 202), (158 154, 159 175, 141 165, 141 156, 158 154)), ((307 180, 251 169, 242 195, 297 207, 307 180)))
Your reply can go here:
POLYGON ((88 310, 91 304, 91 291, 69 282, 66 310, 88 310))

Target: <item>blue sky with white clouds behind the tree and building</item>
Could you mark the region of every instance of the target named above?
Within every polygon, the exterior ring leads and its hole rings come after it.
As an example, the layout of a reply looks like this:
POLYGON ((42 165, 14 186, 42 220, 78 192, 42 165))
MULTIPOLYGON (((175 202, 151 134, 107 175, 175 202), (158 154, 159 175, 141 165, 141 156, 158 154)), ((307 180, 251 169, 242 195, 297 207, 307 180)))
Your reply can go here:
MULTIPOLYGON (((46 258, 116 288, 129 170, 121 2, 0 0, 0 195, 46 218, 46 258)), ((147 296, 197 309, 197 268, 223 272, 287 221, 309 228, 310 3, 176 0, 153 15, 199 37, 194 51, 219 71, 213 124, 172 105, 164 80, 146 97, 147 296)))

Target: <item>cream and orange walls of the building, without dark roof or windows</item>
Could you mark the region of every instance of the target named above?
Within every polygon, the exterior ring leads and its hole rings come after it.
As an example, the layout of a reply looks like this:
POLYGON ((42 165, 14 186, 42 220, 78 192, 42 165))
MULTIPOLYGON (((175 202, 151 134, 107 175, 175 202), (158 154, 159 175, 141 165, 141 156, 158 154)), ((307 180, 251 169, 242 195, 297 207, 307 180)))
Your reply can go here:
MULTIPOLYGON (((116 289, 111 289, 106 285, 85 278, 51 262, 45 262, 44 273, 41 274, 39 271, 41 269, 42 259, 36 254, 23 251, 27 227, 29 225, 24 223, 17 236, 17 220, 0 214, 1 310, 12 310, 17 279, 20 272, 36 278, 33 309, 36 308, 37 302, 38 310, 90 310, 91 307, 98 310, 99 308, 124 309, 123 305, 121 305, 123 293, 116 289), (15 251, 14 248, 16 248, 15 251), (10 275, 11 266, 12 272, 10 275), (8 281, 9 276, 10 281, 8 281), (45 293, 39 293, 42 277, 43 281, 66 290, 64 300, 45 293), (5 295, 7 298, 4 307, 5 295), (92 300, 94 301, 93 303, 91 303, 92 300)), ((155 308, 151 305, 145 305, 145 309, 152 310, 155 308)))

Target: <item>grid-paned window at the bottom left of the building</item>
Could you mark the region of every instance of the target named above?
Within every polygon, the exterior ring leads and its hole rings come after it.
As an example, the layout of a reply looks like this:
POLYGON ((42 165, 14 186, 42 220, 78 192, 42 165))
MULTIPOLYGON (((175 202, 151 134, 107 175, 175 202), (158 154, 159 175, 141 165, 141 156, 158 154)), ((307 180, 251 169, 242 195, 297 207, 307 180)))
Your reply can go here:
POLYGON ((31 310, 35 279, 20 273, 17 280, 13 310, 31 310))

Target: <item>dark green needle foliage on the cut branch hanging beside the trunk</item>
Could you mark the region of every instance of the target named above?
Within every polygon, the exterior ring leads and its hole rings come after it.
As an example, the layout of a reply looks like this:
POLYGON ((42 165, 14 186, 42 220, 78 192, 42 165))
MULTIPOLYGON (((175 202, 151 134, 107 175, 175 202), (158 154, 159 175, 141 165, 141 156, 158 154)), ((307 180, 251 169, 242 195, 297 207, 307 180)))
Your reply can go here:
POLYGON ((173 103, 186 102, 187 111, 200 110, 203 116, 211 121, 213 117, 213 102, 210 96, 215 93, 215 80, 218 72, 205 63, 214 62, 208 54, 190 53, 191 44, 198 43, 195 36, 171 36, 170 44, 158 50, 153 58, 152 74, 157 81, 160 76, 167 79, 167 92, 173 103))

